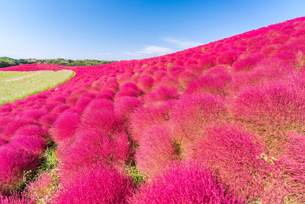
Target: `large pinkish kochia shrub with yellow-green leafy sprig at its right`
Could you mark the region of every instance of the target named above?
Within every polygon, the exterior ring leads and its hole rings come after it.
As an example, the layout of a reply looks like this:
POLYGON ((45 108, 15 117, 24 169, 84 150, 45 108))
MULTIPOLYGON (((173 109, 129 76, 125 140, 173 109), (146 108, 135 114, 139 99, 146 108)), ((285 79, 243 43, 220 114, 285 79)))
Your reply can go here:
MULTIPOLYGON (((206 163, 225 184, 249 201, 283 202, 285 189, 275 165, 260 154, 266 153, 257 135, 242 126, 221 123, 204 127, 185 150, 190 159, 206 163), (251 184, 251 185, 249 185, 251 184)), ((269 158, 276 155, 269 155, 269 158)))

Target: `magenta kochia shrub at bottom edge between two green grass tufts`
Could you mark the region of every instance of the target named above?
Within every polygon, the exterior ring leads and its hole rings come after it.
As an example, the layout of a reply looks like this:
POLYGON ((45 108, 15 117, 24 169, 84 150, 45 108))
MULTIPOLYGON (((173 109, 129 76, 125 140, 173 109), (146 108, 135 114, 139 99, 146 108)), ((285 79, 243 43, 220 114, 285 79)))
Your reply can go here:
POLYGON ((106 164, 87 164, 59 187, 50 204, 124 204, 132 182, 125 171, 106 164))

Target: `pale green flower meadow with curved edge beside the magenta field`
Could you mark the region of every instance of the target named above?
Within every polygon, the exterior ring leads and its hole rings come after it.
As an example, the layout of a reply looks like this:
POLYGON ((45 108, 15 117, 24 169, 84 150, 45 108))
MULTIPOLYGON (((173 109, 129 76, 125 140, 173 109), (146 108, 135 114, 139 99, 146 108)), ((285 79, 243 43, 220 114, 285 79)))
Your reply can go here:
POLYGON ((75 75, 60 71, 0 71, 0 105, 54 88, 75 75))

